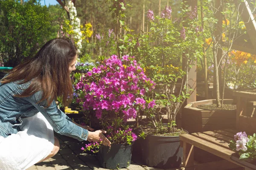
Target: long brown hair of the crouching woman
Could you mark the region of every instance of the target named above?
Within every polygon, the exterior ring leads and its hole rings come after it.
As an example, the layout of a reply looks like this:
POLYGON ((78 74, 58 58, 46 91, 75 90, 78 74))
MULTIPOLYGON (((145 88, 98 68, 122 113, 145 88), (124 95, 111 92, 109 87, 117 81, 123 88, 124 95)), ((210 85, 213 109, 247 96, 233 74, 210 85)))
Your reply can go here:
POLYGON ((48 107, 57 96, 62 96, 63 104, 67 105, 73 95, 69 64, 75 59, 76 53, 77 49, 70 39, 50 40, 35 57, 13 68, 1 83, 19 81, 19 84, 23 84, 31 81, 29 87, 17 97, 28 97, 42 91, 40 101, 46 99, 48 107))

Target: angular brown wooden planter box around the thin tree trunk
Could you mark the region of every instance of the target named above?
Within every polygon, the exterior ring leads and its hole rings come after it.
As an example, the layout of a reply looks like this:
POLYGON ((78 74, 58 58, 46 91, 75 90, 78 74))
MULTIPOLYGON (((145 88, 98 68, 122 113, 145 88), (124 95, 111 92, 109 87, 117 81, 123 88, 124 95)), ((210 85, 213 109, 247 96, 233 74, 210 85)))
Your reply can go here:
MULTIPOLYGON (((212 103, 216 103, 215 99, 186 105, 182 111, 182 127, 189 133, 234 128, 236 126, 236 110, 208 111, 196 108, 198 105, 212 103)), ((233 104, 233 99, 224 99, 224 104, 233 104)))

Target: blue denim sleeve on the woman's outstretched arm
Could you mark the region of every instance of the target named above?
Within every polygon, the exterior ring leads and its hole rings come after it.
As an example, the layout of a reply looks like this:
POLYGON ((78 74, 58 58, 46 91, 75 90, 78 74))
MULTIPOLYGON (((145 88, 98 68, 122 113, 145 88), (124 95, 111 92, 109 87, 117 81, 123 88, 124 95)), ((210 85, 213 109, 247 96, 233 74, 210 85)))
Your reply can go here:
POLYGON ((49 107, 46 107, 47 102, 45 100, 39 102, 40 99, 41 92, 37 92, 30 96, 28 100, 44 115, 55 132, 70 136, 79 141, 87 140, 88 130, 74 124, 65 113, 58 109, 55 101, 53 101, 49 107))

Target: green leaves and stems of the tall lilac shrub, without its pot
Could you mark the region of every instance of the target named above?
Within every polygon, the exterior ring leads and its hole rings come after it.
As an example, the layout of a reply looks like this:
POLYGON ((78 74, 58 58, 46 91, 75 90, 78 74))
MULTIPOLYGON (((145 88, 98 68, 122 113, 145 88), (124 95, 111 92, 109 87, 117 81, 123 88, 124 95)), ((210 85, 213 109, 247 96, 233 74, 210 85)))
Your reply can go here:
MULTIPOLYGON (((173 21, 170 20, 170 6, 166 6, 161 16, 154 16, 154 12, 148 10, 150 32, 134 36, 127 34, 123 40, 128 54, 134 55, 144 65, 145 73, 162 90, 153 96, 159 107, 166 107, 169 123, 175 120, 181 105, 189 97, 189 89, 186 87, 188 71, 197 58, 203 55, 203 29, 198 26, 197 8, 189 10, 186 4, 184 6, 180 19, 175 18, 173 21), (186 63, 183 69, 182 57, 186 63), (178 88, 177 82, 181 83, 178 88)), ((152 114, 150 116, 155 127, 159 125, 157 119, 152 114)))

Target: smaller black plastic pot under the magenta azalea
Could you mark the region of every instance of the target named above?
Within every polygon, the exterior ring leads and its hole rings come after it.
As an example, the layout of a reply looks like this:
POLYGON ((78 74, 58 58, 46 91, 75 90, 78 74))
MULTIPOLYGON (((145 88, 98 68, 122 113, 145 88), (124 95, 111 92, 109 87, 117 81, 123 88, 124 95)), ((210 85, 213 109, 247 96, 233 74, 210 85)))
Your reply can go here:
POLYGON ((99 163, 106 169, 119 169, 128 167, 131 164, 131 145, 111 144, 102 147, 98 152, 99 163))

